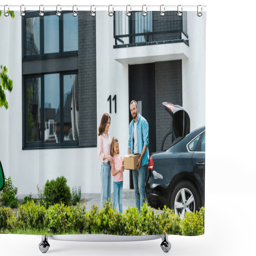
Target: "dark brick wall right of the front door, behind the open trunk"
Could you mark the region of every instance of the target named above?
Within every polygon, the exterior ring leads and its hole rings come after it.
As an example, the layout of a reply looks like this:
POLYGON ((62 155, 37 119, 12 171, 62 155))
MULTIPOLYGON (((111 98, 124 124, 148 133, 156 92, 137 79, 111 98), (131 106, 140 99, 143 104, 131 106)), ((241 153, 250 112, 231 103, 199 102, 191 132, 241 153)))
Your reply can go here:
MULTIPOLYGON (((176 14, 177 16, 177 14, 176 14)), ((178 17, 178 16, 177 16, 178 17)), ((171 118, 162 102, 171 102, 182 106, 182 63, 181 60, 161 61, 155 63, 156 79, 156 151, 161 149, 164 135, 171 127, 171 118)), ((169 148, 171 136, 164 143, 169 148)))

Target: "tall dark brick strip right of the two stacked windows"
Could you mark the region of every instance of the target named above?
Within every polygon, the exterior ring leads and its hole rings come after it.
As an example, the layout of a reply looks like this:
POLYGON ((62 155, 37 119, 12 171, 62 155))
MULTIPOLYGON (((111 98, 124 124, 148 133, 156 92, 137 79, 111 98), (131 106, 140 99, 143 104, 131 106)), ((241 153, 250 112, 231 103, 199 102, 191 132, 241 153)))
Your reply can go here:
POLYGON ((78 15, 79 146, 97 145, 96 19, 78 15))

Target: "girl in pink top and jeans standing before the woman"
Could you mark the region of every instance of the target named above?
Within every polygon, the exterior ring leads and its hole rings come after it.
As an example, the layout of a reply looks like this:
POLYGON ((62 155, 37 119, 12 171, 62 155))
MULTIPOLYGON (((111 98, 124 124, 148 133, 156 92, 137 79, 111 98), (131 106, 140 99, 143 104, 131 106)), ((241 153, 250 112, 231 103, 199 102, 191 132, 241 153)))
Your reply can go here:
POLYGON ((116 209, 117 200, 119 205, 119 212, 123 212, 122 197, 123 197, 123 172, 124 172, 124 158, 119 154, 118 140, 113 137, 111 141, 111 156, 114 158, 114 163, 111 163, 111 172, 114 176, 114 203, 113 209, 116 209))

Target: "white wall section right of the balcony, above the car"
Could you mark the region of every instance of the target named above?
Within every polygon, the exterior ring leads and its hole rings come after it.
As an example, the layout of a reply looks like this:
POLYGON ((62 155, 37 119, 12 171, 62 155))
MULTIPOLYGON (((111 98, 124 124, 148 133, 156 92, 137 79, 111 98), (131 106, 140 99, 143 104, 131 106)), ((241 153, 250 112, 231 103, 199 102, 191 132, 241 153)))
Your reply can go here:
POLYGON ((189 58, 182 60, 182 103, 190 117, 190 131, 205 125, 206 13, 188 12, 189 58))

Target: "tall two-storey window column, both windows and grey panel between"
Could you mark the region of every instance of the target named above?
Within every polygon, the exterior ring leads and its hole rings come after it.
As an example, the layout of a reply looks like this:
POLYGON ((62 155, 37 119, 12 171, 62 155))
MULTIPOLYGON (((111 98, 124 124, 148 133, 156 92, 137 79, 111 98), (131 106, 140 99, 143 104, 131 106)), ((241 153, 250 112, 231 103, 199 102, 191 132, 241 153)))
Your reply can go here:
POLYGON ((22 18, 23 148, 74 147, 78 130, 78 18, 22 18))

